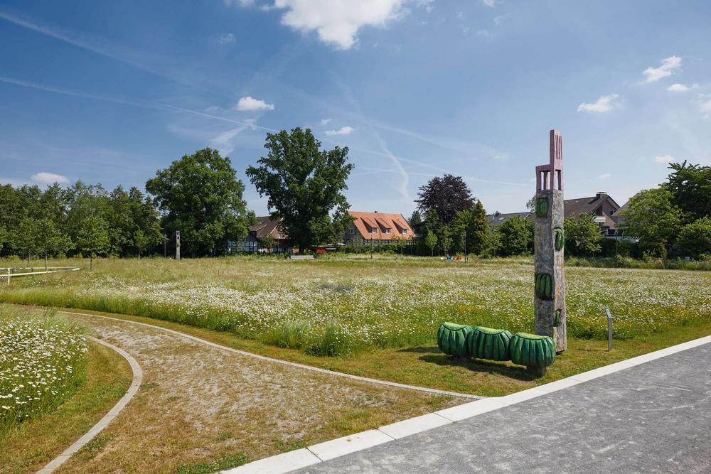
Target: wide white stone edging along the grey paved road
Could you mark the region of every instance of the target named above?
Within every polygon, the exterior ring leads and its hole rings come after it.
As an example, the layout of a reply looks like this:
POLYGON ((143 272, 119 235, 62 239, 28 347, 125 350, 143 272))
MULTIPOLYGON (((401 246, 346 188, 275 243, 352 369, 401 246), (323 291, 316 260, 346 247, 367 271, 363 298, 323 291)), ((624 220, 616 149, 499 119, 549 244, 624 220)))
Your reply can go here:
POLYGON ((404 438, 405 436, 435 429, 438 426, 455 423, 456 421, 468 419, 472 416, 477 416, 488 411, 498 410, 504 406, 525 402, 526 400, 540 397, 541 395, 557 392, 558 390, 566 389, 567 387, 572 387, 573 385, 581 384, 599 377, 604 377, 605 375, 613 374, 614 372, 619 372, 621 370, 628 369, 629 367, 635 367, 636 365, 640 365, 645 362, 661 359, 662 357, 666 357, 677 352, 683 352, 684 350, 696 348, 700 345, 708 343, 711 343, 711 335, 705 336, 704 338, 690 340, 686 343, 673 345, 669 348, 657 350, 655 352, 649 352, 648 354, 632 357, 631 359, 599 367, 594 370, 589 370, 588 372, 582 372, 581 374, 573 375, 572 377, 550 382, 550 384, 540 385, 539 387, 533 387, 531 389, 523 390, 522 392, 506 395, 506 397, 489 397, 476 402, 452 406, 451 408, 435 411, 434 413, 416 416, 415 418, 407 419, 405 421, 398 421, 397 423, 387 426, 380 426, 378 429, 355 433, 350 436, 344 436, 343 438, 326 441, 325 443, 319 443, 307 448, 256 460, 252 463, 242 465, 239 468, 223 470, 221 472, 223 474, 289 473, 293 470, 309 467, 309 465, 322 463, 324 460, 337 458, 356 451, 362 451, 363 449, 371 448, 373 446, 377 446, 378 444, 389 443, 390 441, 395 441, 396 439, 404 438), (292 460, 298 460, 298 462, 292 463, 292 460))

